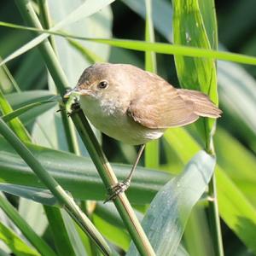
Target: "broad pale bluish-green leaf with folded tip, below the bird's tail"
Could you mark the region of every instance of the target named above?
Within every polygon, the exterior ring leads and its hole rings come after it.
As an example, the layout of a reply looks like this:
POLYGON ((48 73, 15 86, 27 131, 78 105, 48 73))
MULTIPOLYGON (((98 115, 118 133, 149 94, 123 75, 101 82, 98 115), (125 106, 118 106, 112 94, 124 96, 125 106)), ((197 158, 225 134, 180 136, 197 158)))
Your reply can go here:
MULTIPOLYGON (((154 197, 143 218, 143 229, 157 255, 176 253, 191 209, 207 188, 214 167, 215 159, 200 151, 154 197)), ((134 246, 127 255, 138 255, 134 246)))

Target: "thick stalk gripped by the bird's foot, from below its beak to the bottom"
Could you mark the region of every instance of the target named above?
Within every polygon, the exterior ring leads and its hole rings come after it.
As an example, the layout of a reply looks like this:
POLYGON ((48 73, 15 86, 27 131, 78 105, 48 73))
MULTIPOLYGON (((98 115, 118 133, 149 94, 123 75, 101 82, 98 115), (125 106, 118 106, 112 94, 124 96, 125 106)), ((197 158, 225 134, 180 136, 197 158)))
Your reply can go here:
MULTIPOLYGON (((85 118, 82 109, 79 108, 78 105, 73 104, 71 117, 90 154, 91 160, 93 160, 99 175, 102 177, 106 189, 111 188, 114 184, 118 183, 117 177, 103 153, 95 134, 91 130, 88 120, 85 118)), ((148 241, 148 237, 145 235, 125 193, 117 195, 117 197, 113 199, 113 203, 119 211, 138 252, 141 253, 141 255, 155 255, 154 250, 148 241)))

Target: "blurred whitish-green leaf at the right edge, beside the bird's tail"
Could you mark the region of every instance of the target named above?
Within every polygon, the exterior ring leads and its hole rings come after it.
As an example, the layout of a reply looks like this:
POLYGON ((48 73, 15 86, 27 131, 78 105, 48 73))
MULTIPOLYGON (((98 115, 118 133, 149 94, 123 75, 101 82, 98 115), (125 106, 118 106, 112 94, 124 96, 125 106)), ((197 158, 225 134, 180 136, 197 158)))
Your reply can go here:
MULTIPOLYGON (((225 116, 230 117, 240 136, 245 137, 247 143, 253 144, 251 138, 256 135, 255 79, 235 63, 218 61, 218 84, 225 116)), ((256 145, 252 148, 256 150, 256 145)))

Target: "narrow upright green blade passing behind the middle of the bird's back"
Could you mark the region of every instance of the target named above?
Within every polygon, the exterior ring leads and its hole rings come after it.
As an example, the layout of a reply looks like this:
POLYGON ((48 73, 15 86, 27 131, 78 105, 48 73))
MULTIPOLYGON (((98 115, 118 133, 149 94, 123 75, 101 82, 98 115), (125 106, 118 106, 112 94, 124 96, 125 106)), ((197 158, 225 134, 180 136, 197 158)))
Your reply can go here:
MULTIPOLYGON (((146 4, 146 27, 145 27, 145 41, 154 42, 154 25, 152 20, 152 1, 145 0, 146 4)), ((153 51, 145 52, 145 70, 157 73, 156 57, 153 51)), ((157 168, 159 166, 159 141, 154 140, 146 144, 145 148, 145 166, 150 168, 157 168)))

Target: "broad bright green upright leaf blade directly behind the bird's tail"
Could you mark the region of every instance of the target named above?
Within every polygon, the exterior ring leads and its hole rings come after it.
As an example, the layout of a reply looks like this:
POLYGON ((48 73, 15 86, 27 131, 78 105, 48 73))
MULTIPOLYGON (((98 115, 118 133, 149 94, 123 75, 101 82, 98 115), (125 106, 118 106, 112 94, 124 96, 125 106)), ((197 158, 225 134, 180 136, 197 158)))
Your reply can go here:
MULTIPOLYGON (((204 3, 206 4, 206 3, 204 3)), ((201 4, 201 5, 204 5, 201 4)), ((173 1, 173 42, 203 49, 211 49, 201 10, 197 1, 173 1)), ((213 15, 214 12, 211 13, 213 15)), ((210 16, 209 16, 210 17, 210 16)), ((208 20, 210 20, 209 18, 208 20)), ((216 24, 215 24, 216 25, 216 24)), ((216 42, 217 26, 212 27, 213 42, 216 42)), ((216 43, 213 44, 216 46, 216 43)), ((201 90, 212 102, 218 104, 215 60, 174 56, 177 77, 185 89, 201 90)), ((205 139, 207 150, 210 144, 212 119, 203 119, 196 126, 205 139)))

